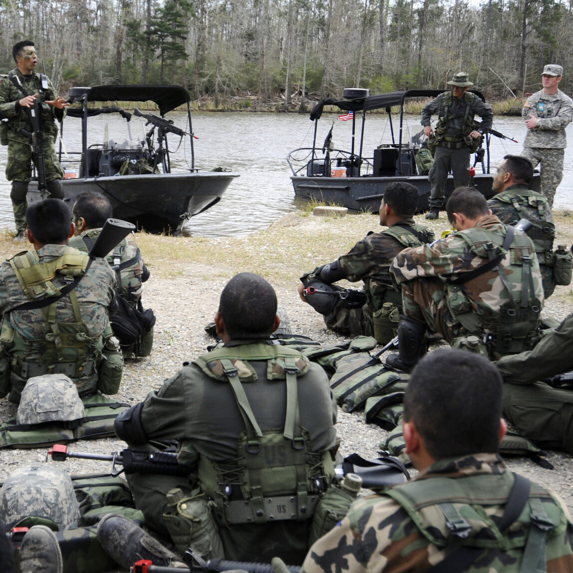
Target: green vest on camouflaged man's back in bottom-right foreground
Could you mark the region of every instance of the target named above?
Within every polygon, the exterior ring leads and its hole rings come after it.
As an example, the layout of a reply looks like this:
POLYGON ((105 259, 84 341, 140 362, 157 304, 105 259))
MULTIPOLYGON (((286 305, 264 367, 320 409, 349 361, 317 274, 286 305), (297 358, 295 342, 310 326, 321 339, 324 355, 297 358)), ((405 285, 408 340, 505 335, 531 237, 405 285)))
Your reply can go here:
MULTIPOLYGON (((524 478, 520 479, 527 483, 524 478)), ((478 557, 480 564, 489 563, 483 550, 523 548, 520 571, 545 571, 545 537, 563 535, 567 527, 566 516, 550 493, 536 484, 530 485, 528 494, 525 489, 518 503, 511 503, 516 515, 509 512, 506 516, 513 481, 509 472, 474 474, 462 479, 431 477, 395 486, 384 495, 405 509, 418 531, 431 544, 438 550, 445 549, 448 555, 444 562, 436 564, 437 570, 461 571, 461 568, 453 567, 456 562, 452 556, 465 551, 471 559, 472 550, 468 551, 468 548, 481 551, 474 550, 475 558, 466 562, 464 571, 478 557), (504 508, 504 517, 486 517, 484 509, 488 506, 504 508), (440 568, 446 562, 451 569, 440 568)), ((489 570, 488 567, 485 569, 489 570)))

